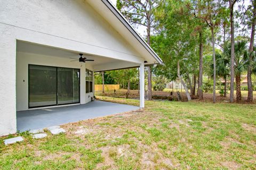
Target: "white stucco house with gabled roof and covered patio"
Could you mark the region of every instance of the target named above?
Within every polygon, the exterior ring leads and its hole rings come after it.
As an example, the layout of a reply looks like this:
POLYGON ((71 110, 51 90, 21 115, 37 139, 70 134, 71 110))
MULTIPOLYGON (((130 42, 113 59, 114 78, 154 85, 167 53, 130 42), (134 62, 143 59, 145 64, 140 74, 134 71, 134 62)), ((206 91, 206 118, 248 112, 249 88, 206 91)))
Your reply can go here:
POLYGON ((144 107, 144 67, 162 60, 107 0, 0 9, 0 135, 17 132, 17 111, 90 102, 94 72, 139 67, 144 107))

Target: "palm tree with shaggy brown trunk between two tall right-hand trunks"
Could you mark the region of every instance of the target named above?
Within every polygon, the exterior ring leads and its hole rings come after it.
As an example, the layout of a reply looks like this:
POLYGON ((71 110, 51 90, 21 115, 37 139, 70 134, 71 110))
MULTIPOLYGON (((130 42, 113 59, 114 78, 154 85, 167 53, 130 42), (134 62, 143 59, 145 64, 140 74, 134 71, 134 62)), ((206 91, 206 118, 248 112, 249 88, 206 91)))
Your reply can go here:
MULTIPOLYGON (((223 50, 223 53, 230 57, 231 45, 229 44, 223 50)), ((242 100, 241 95, 241 74, 247 70, 248 66, 248 55, 247 42, 237 41, 235 43, 235 77, 236 77, 236 101, 242 100)))

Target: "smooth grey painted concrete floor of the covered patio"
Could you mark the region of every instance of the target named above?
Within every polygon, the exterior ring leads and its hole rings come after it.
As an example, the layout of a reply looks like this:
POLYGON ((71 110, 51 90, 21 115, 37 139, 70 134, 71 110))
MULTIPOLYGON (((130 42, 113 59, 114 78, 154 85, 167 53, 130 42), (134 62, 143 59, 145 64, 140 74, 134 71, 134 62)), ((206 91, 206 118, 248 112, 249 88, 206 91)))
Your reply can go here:
POLYGON ((134 111, 137 106, 92 101, 84 105, 33 109, 17 112, 17 130, 26 131, 134 111))

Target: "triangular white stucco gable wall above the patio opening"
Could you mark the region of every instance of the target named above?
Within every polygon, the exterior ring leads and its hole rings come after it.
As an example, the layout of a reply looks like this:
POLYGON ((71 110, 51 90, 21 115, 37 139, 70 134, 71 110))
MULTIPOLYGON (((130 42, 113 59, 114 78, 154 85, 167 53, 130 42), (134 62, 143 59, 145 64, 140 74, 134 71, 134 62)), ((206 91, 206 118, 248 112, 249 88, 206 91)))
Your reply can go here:
POLYGON ((138 63, 143 60, 86 1, 0 1, 0 22, 14 29, 20 40, 138 63))

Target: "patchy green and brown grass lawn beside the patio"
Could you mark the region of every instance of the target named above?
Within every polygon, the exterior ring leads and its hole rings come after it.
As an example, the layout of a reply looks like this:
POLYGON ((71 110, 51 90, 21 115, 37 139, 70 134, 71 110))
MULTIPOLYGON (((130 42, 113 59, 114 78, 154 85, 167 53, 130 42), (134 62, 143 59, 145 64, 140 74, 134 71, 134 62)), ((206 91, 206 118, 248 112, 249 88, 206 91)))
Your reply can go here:
MULTIPOLYGON (((134 99, 99 98, 139 104, 134 99)), ((47 132, 38 140, 21 133, 25 141, 10 146, 4 146, 1 138, 0 169, 256 167, 256 105, 252 104, 146 101, 146 108, 139 111, 62 128, 66 134, 47 132), (84 134, 76 134, 77 130, 84 134)))

